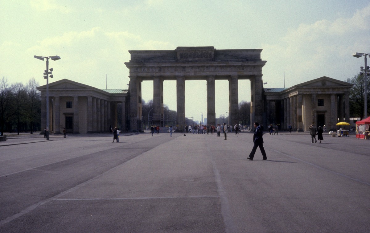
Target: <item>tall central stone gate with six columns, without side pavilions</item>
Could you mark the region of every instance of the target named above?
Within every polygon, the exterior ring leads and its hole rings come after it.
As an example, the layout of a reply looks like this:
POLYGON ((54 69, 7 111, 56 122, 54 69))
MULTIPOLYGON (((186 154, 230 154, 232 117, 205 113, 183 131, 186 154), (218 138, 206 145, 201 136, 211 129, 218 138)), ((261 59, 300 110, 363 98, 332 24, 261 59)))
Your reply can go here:
MULTIPOLYGON (((177 47, 175 50, 131 50, 129 68, 130 130, 141 119, 141 82, 153 81, 153 122, 163 118, 163 82, 176 80, 177 128, 185 128, 185 81, 206 80, 207 123, 215 125, 215 81, 229 81, 229 118, 238 122, 238 80, 250 80, 251 122, 262 122, 262 49, 216 50, 210 47, 177 47)), ((252 123, 253 124, 253 123, 252 123)))

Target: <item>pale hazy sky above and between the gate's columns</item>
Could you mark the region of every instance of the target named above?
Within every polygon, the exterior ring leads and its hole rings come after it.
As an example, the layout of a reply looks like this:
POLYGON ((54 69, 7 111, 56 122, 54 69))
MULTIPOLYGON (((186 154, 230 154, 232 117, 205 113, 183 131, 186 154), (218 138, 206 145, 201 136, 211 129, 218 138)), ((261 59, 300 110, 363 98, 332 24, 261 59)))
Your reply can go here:
MULTIPOLYGON (((369 0, 3 0, 0 1, 0 78, 46 84, 73 80, 99 89, 127 89, 129 50, 179 46, 262 49, 265 88, 292 87, 327 76, 345 81, 370 53, 369 0), (107 82, 106 82, 107 77, 107 82)), ((369 60, 370 63, 370 60, 369 60)), ((228 115, 227 81, 216 81, 216 117, 228 115)), ((176 82, 164 82, 164 104, 176 111, 176 82)), ((142 99, 153 83, 142 82, 142 99)), ((206 82, 185 82, 186 117, 206 117, 206 82)), ((250 81, 239 81, 239 102, 250 81)))

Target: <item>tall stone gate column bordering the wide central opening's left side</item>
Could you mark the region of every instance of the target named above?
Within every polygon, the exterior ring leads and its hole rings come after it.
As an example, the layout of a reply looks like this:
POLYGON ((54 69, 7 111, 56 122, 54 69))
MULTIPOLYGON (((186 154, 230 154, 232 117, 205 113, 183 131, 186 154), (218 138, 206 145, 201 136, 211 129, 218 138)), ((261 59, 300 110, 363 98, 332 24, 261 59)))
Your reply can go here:
MULTIPOLYGON (((176 122, 177 130, 184 132, 185 129, 185 77, 176 77, 176 122)), ((208 114, 208 113, 207 113, 208 114)))

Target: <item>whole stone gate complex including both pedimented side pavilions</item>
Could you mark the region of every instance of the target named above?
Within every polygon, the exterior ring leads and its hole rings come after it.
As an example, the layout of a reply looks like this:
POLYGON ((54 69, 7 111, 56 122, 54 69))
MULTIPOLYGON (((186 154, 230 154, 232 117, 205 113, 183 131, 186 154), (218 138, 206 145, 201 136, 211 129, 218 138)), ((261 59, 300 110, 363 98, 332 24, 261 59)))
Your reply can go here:
MULTIPOLYGON (((133 50, 129 89, 99 90, 85 84, 60 80, 49 84, 50 132, 107 132, 109 126, 141 129, 143 81, 153 82, 153 124, 163 121, 163 82, 176 81, 178 129, 185 128, 185 81, 205 80, 207 124, 215 125, 215 81, 229 81, 229 118, 238 122, 238 80, 250 80, 251 127, 254 121, 308 131, 311 124, 335 129, 349 120, 349 90, 352 84, 321 77, 290 88, 263 88, 262 49, 216 50, 214 47, 177 47, 175 50, 133 50), (121 111, 117 111, 120 105, 121 111), (272 109, 275 114, 272 114, 272 109), (272 119, 272 116, 273 119, 272 119)), ((41 126, 46 126, 46 85, 41 91, 41 126)))

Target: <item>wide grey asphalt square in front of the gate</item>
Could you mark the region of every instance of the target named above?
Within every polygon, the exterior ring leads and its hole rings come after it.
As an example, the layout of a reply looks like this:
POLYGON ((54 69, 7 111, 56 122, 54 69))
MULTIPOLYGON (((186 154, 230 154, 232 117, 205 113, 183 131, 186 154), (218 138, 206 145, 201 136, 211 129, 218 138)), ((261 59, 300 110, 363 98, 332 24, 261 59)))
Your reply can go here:
POLYGON ((370 140, 9 135, 0 232, 368 232, 370 140))

